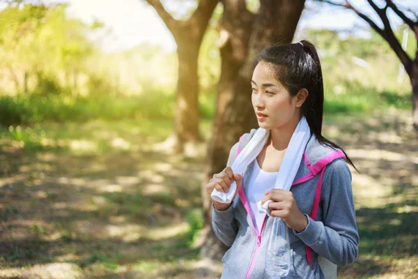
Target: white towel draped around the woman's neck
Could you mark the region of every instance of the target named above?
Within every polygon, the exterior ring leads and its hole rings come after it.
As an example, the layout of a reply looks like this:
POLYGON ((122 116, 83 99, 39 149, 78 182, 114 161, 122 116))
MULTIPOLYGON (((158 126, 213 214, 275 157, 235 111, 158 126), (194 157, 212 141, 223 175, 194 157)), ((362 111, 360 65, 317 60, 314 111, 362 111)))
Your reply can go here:
MULTIPOLYGON (((238 157, 235 159, 235 162, 231 166, 234 174, 245 173, 249 163, 256 159, 258 154, 261 152, 261 149, 263 149, 263 146, 265 146, 269 136, 270 130, 265 130, 263 128, 258 128, 256 130, 254 136, 251 137, 251 140, 247 146, 242 149, 241 153, 238 155, 238 157)), ((274 188, 284 190, 289 190, 291 188, 297 173, 297 169, 299 169, 300 160, 302 160, 305 146, 307 145, 310 137, 311 131, 309 130, 309 125, 307 120, 302 117, 299 123, 297 123, 296 129, 293 132, 286 153, 284 154, 284 158, 281 163, 274 188)), ((232 202, 235 190, 236 183, 233 181, 228 193, 222 193, 214 189, 211 197, 216 202, 229 204, 232 202)), ((261 206, 261 201, 258 202, 258 211, 260 211, 260 213, 267 213, 270 216, 270 210, 268 209, 268 204, 270 204, 270 202, 272 201, 265 202, 263 206, 261 206)))

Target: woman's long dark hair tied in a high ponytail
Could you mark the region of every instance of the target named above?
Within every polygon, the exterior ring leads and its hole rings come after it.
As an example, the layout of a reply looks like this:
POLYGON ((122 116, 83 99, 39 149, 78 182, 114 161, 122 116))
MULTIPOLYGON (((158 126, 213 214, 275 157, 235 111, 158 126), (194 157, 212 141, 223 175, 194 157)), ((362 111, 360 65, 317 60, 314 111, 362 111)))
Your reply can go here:
MULTIPOLYGON (((301 113, 307 119, 311 133, 314 133, 320 144, 343 151, 322 135, 324 86, 315 46, 307 40, 289 45, 272 45, 256 54, 253 69, 260 62, 272 67, 274 77, 286 87, 291 96, 295 96, 300 89, 307 89, 309 94, 301 107, 301 113)), ((359 172, 347 153, 343 153, 346 161, 359 172)))

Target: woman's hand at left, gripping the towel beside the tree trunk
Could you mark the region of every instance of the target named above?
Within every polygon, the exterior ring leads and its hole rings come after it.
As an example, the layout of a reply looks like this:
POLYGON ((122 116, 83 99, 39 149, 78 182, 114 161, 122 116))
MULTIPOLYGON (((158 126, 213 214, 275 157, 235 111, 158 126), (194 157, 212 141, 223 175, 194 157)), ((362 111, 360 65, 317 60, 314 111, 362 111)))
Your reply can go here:
MULTIPOLYGON (((233 199, 235 199, 235 196, 238 194, 238 190, 240 190, 242 185, 242 176, 240 174, 234 174, 231 167, 226 167, 222 172, 219 172, 219 174, 213 174, 212 179, 206 184, 206 190, 208 190, 209 196, 212 195, 213 189, 216 189, 219 192, 228 193, 234 180, 237 182, 237 189, 233 195, 233 199)), ((212 199, 212 197, 210 197, 210 199, 212 199)), ((222 204, 213 199, 212 202, 215 209, 220 211, 228 209, 232 203, 222 204)))

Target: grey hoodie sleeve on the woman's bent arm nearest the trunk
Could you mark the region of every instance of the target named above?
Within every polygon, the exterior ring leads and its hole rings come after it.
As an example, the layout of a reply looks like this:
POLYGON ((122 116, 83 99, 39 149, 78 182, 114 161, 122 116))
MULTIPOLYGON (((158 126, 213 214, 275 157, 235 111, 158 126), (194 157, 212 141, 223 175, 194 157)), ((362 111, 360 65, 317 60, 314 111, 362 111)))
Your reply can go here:
MULTIPOLYGON (((238 142, 234 144, 229 152, 228 165, 231 167, 238 151, 238 142)), ((238 195, 237 195, 238 197, 238 195)), ((237 198, 235 197, 235 199, 237 198)), ((233 204, 224 211, 215 209, 212 204, 212 228, 217 238, 226 246, 232 246, 235 236, 238 232, 238 226, 235 218, 233 218, 233 204)))

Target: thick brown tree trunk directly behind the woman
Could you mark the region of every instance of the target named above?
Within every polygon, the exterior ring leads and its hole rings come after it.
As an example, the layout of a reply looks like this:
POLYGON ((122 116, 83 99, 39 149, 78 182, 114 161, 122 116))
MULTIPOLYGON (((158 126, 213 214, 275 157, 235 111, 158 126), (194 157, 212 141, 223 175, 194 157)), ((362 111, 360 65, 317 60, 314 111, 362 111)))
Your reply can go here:
POLYGON ((206 180, 202 185, 206 241, 201 257, 220 259, 225 246, 211 229, 211 205, 206 183, 226 167, 231 146, 240 135, 258 128, 251 105, 252 59, 257 50, 272 43, 291 43, 304 0, 261 0, 257 15, 249 13, 245 1, 224 0, 220 33, 228 33, 220 48, 222 73, 218 84, 217 110, 208 149, 206 180), (238 4, 240 2, 240 4, 238 4), (216 243, 216 245, 214 244, 216 243))

